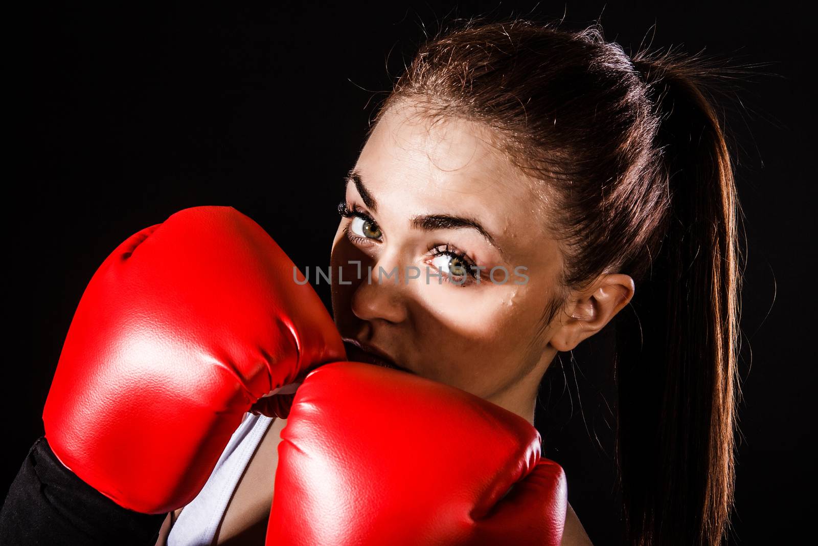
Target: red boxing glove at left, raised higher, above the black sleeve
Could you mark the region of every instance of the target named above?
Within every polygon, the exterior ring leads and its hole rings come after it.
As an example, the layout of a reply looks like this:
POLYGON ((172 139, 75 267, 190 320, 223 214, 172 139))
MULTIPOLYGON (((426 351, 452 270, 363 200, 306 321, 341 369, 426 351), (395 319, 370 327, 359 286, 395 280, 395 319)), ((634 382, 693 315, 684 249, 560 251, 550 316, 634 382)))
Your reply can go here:
POLYGON ((124 241, 85 289, 48 393, 57 458, 124 508, 190 502, 247 411, 292 401, 261 397, 345 359, 294 269, 231 207, 182 210, 124 241))

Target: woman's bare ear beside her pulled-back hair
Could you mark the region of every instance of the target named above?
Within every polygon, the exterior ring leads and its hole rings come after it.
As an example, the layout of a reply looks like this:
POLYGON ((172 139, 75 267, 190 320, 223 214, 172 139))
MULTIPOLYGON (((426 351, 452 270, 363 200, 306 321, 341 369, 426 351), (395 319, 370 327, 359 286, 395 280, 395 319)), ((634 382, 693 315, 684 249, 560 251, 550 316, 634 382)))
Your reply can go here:
POLYGON ((636 288, 631 277, 623 273, 603 273, 586 291, 575 294, 573 303, 558 316, 549 344, 558 351, 573 350, 588 337, 599 332, 631 301, 636 288))

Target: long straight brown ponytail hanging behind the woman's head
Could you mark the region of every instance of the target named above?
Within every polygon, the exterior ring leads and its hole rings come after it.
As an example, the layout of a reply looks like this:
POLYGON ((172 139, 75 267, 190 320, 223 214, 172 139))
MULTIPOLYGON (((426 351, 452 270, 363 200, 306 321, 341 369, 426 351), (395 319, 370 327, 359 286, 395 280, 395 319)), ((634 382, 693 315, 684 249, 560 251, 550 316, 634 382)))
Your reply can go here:
POLYGON ((735 481, 739 250, 715 70, 637 54, 660 127, 670 207, 617 318, 617 459, 628 544, 721 544, 735 481))

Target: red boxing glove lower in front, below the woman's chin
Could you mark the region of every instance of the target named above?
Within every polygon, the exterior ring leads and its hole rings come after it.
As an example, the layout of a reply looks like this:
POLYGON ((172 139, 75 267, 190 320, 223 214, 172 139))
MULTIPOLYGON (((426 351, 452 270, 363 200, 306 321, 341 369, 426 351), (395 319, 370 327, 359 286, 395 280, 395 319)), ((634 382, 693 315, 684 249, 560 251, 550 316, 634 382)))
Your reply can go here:
POLYGON ((568 488, 522 417, 364 363, 299 387, 278 446, 267 544, 560 544, 568 488))

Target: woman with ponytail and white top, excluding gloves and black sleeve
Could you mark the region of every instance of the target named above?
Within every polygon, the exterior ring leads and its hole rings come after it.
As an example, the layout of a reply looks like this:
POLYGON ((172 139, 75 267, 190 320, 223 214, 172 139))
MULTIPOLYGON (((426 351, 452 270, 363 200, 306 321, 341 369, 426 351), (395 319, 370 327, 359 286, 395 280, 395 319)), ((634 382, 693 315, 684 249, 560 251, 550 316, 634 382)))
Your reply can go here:
MULTIPOLYGON (((628 56, 596 28, 473 20, 421 47, 339 205, 331 263, 352 282, 333 282, 332 303, 349 359, 533 422, 557 352, 617 318, 627 544, 719 544, 728 526, 740 279, 719 74, 694 57, 628 56), (366 274, 407 266, 440 277, 366 274)), ((169 515, 157 544, 168 532, 193 544, 202 517, 214 544, 263 544, 285 424, 270 423, 245 420, 244 456, 169 515), (234 491, 223 476, 244 465, 234 491)), ((570 508, 563 544, 590 544, 570 508)))

